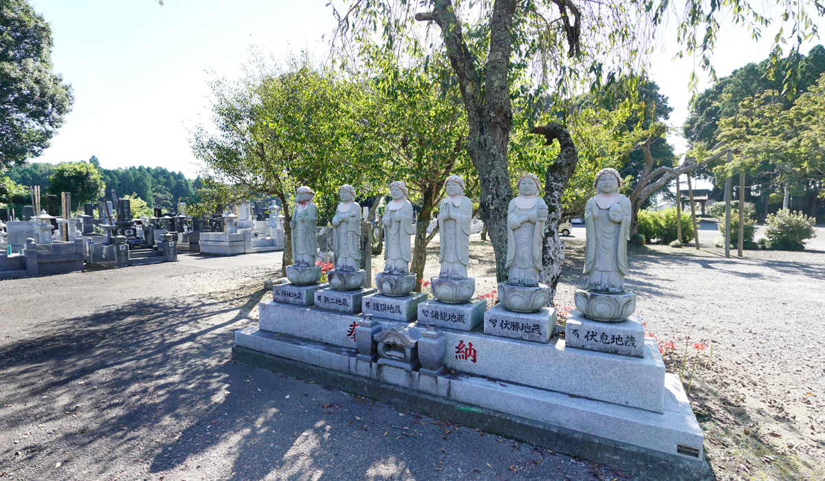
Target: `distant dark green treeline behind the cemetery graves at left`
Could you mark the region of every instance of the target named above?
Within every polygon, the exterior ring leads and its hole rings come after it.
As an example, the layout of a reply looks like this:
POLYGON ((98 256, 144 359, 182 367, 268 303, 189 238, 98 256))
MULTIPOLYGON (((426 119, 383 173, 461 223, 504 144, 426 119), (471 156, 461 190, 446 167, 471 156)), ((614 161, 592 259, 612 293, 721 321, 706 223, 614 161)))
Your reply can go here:
MULTIPOLYGON (((101 172, 106 182, 106 198, 111 197, 111 190, 115 189, 117 196, 131 196, 135 194, 145 200, 149 207, 160 207, 163 210, 174 210, 177 202, 191 202, 195 189, 200 180, 191 180, 184 177, 183 172, 172 172, 164 167, 129 167, 107 169, 100 166, 96 157, 89 159, 97 170, 101 172)), ((7 177, 21 186, 40 186, 43 193, 50 192, 50 180, 54 165, 50 163, 26 163, 12 167, 7 177)))

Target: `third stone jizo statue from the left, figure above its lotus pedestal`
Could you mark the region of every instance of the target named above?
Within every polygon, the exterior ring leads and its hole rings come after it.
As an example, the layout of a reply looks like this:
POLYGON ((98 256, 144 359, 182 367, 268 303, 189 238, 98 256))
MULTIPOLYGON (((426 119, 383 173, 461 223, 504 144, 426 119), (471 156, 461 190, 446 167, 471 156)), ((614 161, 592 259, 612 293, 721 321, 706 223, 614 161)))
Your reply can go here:
POLYGON ((384 274, 405 276, 413 260, 410 238, 413 230, 413 205, 407 200, 408 190, 403 182, 389 184, 393 198, 384 210, 384 274))

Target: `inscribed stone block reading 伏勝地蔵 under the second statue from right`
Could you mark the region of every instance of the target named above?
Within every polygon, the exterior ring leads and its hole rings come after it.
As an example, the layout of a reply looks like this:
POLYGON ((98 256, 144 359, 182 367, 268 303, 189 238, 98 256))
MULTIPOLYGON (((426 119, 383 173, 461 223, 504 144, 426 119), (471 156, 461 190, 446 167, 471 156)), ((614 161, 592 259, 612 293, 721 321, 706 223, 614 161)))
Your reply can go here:
POLYGON ((494 305, 484 313, 484 333, 531 342, 549 342, 556 326, 556 309, 543 307, 535 313, 516 313, 494 305))

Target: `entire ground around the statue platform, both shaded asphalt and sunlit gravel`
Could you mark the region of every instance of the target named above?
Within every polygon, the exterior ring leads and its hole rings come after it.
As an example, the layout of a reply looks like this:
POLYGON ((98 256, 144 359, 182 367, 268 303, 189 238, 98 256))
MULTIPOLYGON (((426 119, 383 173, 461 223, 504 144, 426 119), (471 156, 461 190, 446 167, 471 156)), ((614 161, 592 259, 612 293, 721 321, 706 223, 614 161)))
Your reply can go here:
MULTIPOLYGON (((562 306, 584 282, 577 229, 567 238, 562 306)), ((698 353, 690 398, 718 479, 825 479, 819 233, 805 252, 742 259, 715 248, 630 249, 637 314, 660 346, 676 343, 668 370, 680 372, 686 337, 708 346, 689 347, 685 382, 698 353)), ((493 252, 477 238, 470 275, 484 293, 495 287, 493 252)), ((437 250, 428 248, 427 277, 437 250)), ((262 282, 278 275, 280 257, 181 255, 2 282, 2 312, 14 314, 0 323, 0 477, 625 479, 233 363, 232 332, 256 322, 262 282)))

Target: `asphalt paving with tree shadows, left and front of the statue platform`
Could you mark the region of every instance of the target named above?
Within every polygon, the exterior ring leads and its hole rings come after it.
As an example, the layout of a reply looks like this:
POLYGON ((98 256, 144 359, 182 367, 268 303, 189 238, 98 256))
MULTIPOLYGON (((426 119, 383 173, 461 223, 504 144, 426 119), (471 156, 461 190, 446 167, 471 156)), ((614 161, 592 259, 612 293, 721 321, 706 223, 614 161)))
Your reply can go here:
POLYGON ((623 479, 229 359, 186 285, 277 252, 0 282, 3 479, 623 479))

